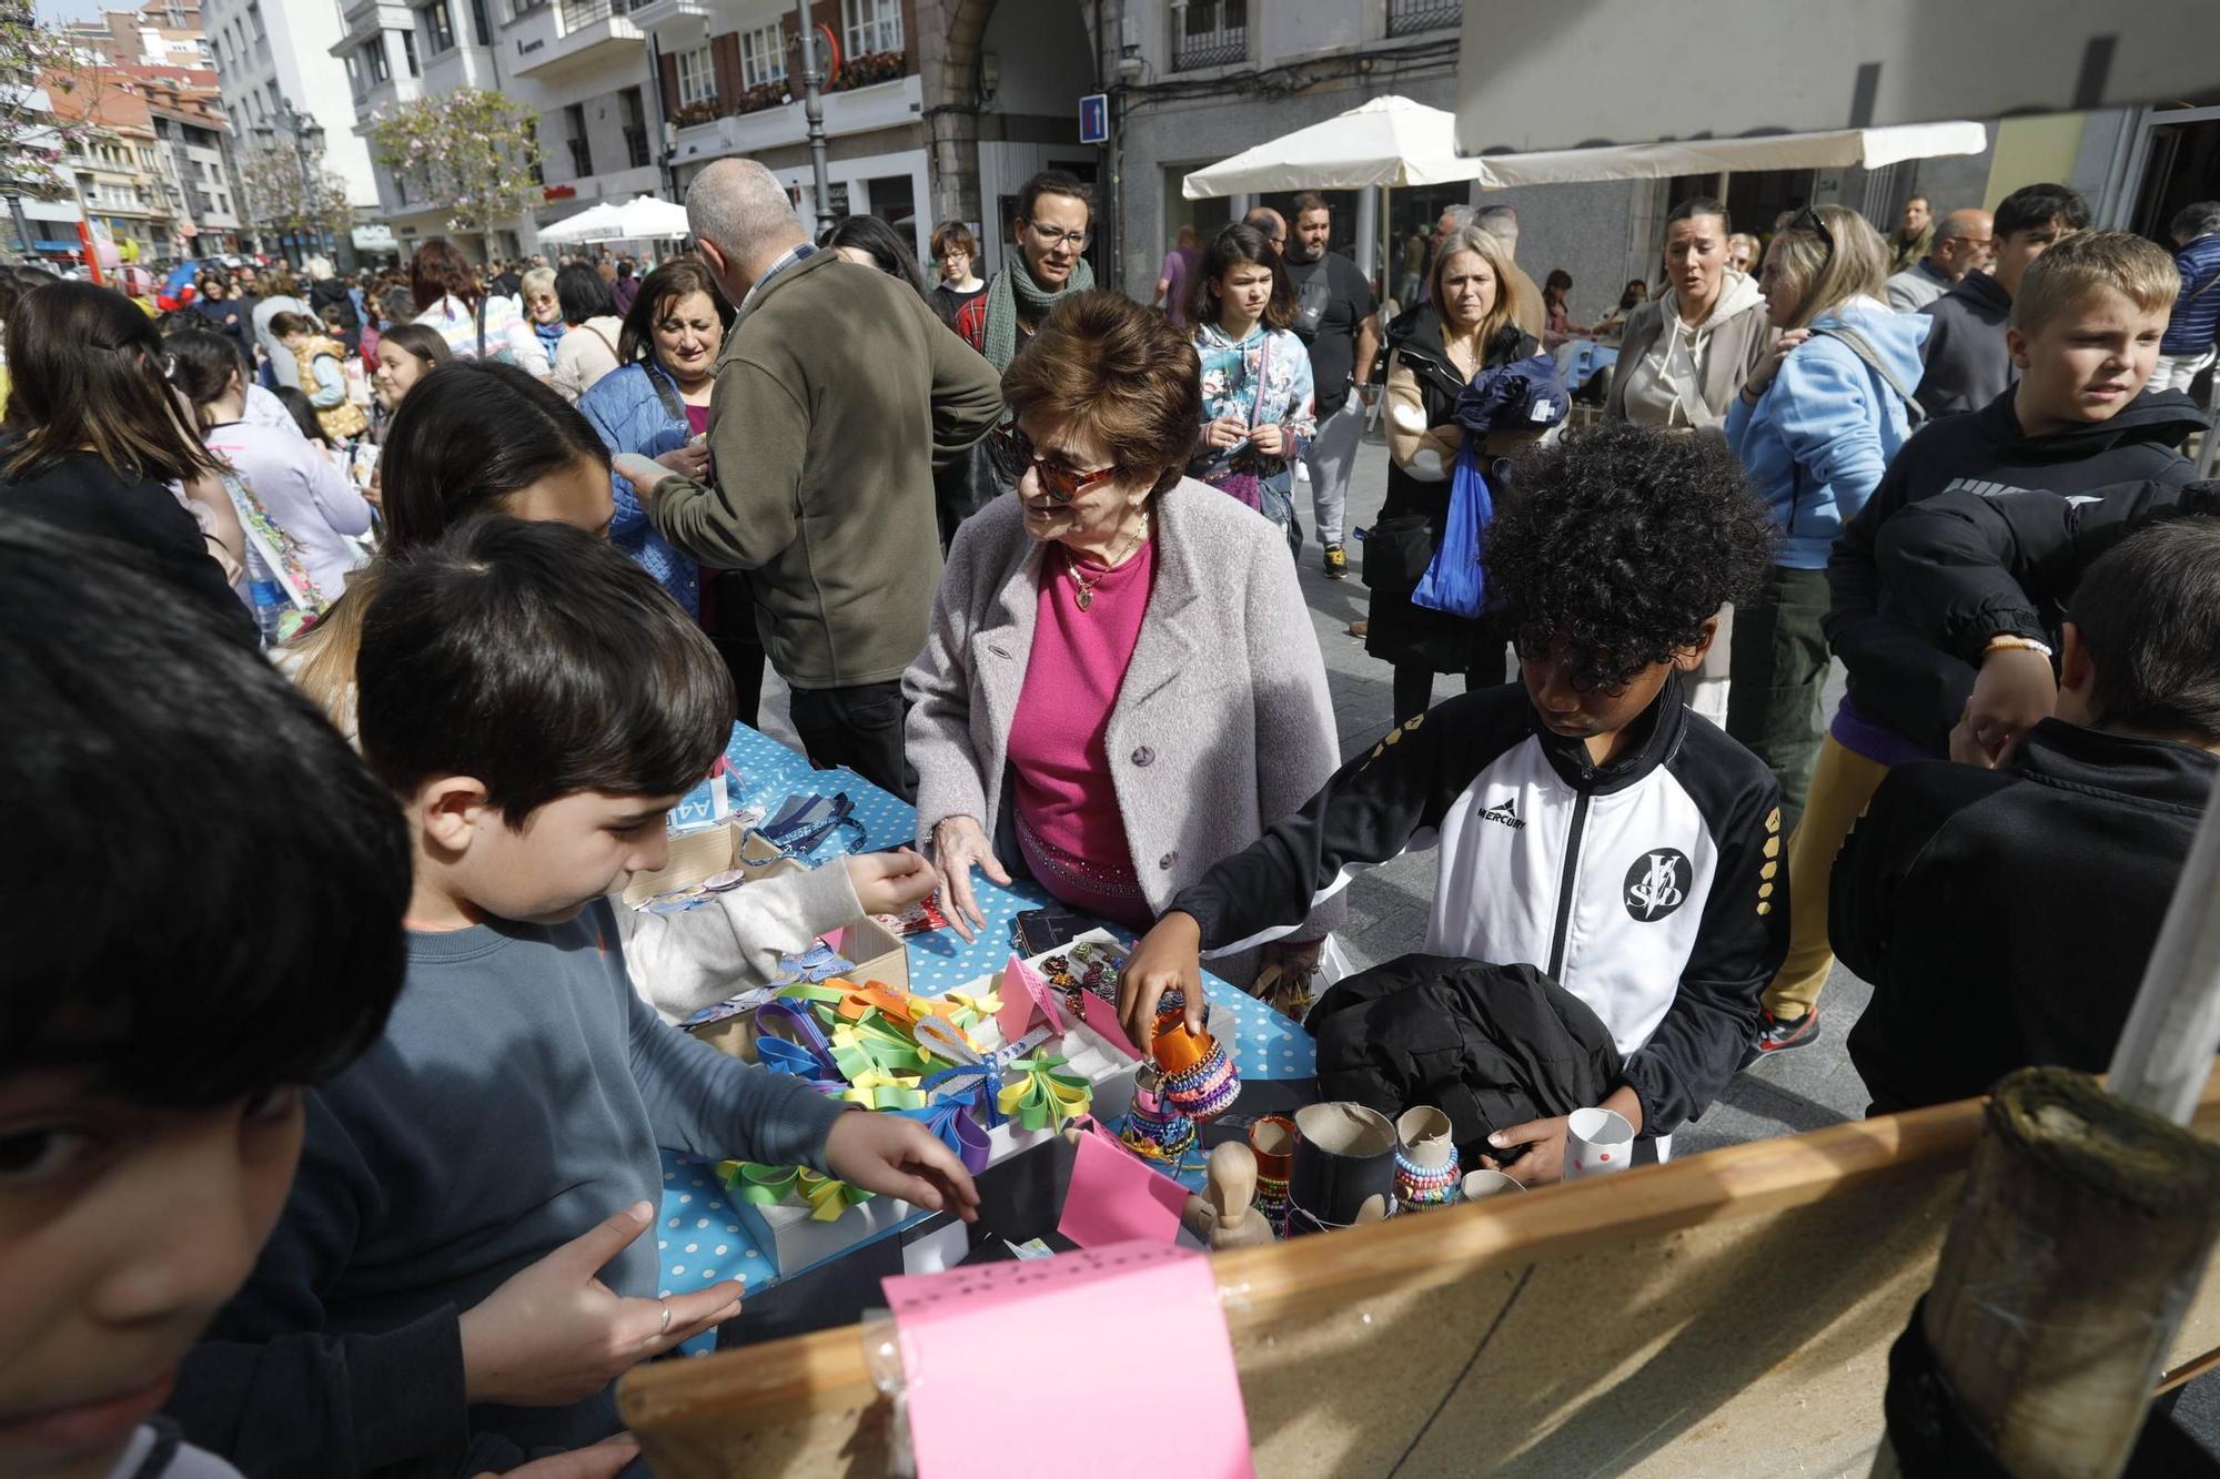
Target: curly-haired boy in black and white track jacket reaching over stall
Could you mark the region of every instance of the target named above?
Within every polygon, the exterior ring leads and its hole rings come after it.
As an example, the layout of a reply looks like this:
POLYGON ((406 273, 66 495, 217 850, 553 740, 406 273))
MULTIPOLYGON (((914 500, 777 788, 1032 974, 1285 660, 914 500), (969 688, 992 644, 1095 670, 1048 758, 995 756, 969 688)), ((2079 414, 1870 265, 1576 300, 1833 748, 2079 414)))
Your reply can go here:
MULTIPOLYGON (((1483 555, 1523 688, 1392 731, 1181 893, 1121 977, 1128 1028, 1148 1033, 1168 986, 1199 1026, 1199 950, 1285 935, 1352 871, 1439 846, 1416 948, 1541 966, 1627 1055, 1605 1108, 1645 1137, 1696 1117, 1787 948, 1787 877, 1772 773, 1689 713, 1683 677, 1769 557, 1716 437, 1605 424, 1536 453, 1483 555)), ((1554 1181, 1563 1139, 1563 1119, 1512 1126, 1494 1159, 1554 1181)))

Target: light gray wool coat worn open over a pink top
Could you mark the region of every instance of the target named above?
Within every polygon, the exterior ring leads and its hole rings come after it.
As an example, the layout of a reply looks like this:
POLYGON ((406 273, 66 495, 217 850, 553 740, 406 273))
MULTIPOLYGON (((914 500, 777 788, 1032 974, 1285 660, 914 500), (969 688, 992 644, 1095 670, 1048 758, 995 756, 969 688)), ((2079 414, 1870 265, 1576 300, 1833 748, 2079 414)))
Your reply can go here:
MULTIPOLYGON (((1110 711, 1110 773, 1150 910, 1296 811, 1341 764, 1325 662, 1281 531, 1192 477, 1157 502, 1157 575, 1110 711)), ((917 831, 979 817, 1010 866, 1010 720, 1026 686, 1046 544, 1015 495, 963 522, 926 651, 901 677, 917 831)), ((1339 895, 1296 939, 1341 922, 1339 895)), ((1214 962, 1252 979, 1254 953, 1214 962)))

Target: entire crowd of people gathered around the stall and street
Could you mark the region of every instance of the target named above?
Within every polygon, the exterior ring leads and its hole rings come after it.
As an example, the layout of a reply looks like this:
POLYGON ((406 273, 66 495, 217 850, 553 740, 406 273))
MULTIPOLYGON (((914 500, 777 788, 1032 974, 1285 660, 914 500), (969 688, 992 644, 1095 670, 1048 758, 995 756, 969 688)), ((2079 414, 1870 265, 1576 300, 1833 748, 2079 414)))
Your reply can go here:
POLYGON ((2220 204, 2171 253, 2056 184, 1914 207, 1760 242, 1685 200, 1592 326, 1505 207, 1374 284, 1296 195, 1143 304, 1068 173, 928 278, 746 160, 648 271, 426 242, 160 318, 7 273, 0 797, 47 928, 0 973, 0 1468, 615 1472, 613 1381, 741 1299, 657 1292, 657 1146, 977 1204, 921 1124, 675 1022, 930 895, 970 939, 981 879, 1139 935, 1148 1044, 1205 955, 1301 1013, 1350 875, 1439 848, 1410 950, 1545 977, 1643 1159, 1818 1037, 1836 955, 1876 1113, 2102 1068, 2220 775, 2220 204), (1547 351, 1601 326, 1567 429, 1547 351), (1352 573, 1374 395, 1394 726, 1339 764, 1299 560, 1308 511, 1352 573), (613 906, 766 666, 917 848, 613 906))

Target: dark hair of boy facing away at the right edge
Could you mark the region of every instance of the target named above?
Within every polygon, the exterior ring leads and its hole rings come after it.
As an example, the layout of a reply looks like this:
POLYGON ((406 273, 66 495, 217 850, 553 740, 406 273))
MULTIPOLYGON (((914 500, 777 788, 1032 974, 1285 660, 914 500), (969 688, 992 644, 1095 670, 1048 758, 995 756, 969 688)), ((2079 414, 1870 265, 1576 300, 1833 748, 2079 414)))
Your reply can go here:
POLYGON ((2220 517, 2136 531, 2089 566, 2067 620, 2100 724, 2220 742, 2220 517))

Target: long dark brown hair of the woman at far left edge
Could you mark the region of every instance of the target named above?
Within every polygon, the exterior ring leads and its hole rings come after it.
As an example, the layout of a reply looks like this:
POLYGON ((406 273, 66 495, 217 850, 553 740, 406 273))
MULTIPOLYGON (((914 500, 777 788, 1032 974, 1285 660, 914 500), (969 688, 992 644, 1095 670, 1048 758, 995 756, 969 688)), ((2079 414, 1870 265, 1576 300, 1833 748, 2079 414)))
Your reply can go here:
POLYGON ((169 351, 135 302, 91 282, 49 282, 7 320, 16 449, 0 475, 38 477, 89 446, 118 477, 186 482, 213 471, 169 389, 169 351))

